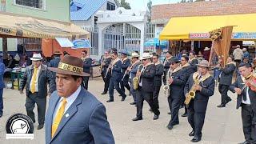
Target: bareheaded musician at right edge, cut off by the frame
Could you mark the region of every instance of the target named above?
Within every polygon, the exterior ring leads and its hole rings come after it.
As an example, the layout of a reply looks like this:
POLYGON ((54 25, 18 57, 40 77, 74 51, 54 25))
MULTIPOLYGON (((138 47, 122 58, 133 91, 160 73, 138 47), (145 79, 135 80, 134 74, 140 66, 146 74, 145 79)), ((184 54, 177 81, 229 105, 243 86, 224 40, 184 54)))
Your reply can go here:
POLYGON ((230 86, 230 90, 238 94, 237 109, 242 107, 242 129, 246 141, 242 144, 256 143, 256 78, 248 63, 238 66, 241 74, 230 86))

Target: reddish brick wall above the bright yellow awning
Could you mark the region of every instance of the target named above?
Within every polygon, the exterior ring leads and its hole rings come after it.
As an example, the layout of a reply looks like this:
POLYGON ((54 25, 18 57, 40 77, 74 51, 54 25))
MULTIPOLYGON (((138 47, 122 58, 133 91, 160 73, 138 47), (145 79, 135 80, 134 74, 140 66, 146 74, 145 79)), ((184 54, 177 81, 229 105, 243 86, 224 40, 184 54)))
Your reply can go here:
POLYGON ((172 17, 256 13, 256 0, 216 0, 177 3, 152 7, 152 22, 168 22, 172 17))

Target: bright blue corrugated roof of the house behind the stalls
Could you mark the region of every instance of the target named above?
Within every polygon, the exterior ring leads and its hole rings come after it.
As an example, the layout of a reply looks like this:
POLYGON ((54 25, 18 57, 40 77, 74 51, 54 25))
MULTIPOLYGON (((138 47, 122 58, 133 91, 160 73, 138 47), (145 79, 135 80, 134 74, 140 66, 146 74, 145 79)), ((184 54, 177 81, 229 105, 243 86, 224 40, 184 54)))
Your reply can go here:
POLYGON ((88 20, 94 13, 98 11, 99 8, 107 0, 73 0, 74 5, 82 6, 80 10, 71 11, 70 12, 70 20, 71 21, 86 21, 88 20))

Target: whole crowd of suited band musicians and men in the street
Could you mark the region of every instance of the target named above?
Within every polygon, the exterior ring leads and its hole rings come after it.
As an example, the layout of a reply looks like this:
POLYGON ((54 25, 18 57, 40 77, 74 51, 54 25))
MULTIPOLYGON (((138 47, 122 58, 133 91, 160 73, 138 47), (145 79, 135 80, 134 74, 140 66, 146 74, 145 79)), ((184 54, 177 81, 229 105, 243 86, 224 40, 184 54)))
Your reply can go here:
MULTIPOLYGON (((237 108, 242 107, 242 126, 246 139, 242 143, 256 143, 256 61, 254 58, 253 66, 250 62, 243 61, 242 58, 247 58, 244 53, 241 53, 242 57, 238 61, 238 53, 241 52, 234 51, 234 61, 233 56, 230 56, 225 66, 214 66, 220 72, 218 91, 221 94, 221 104, 218 107, 225 107, 231 101, 227 95, 228 90, 238 94, 237 108), (238 76, 232 84, 235 71, 238 71, 238 76)), ((81 58, 69 54, 60 58, 61 55, 59 51, 54 52, 54 58, 48 62, 48 66, 42 63, 41 54, 33 54, 30 58, 32 64, 26 66, 20 83, 20 94, 26 89, 27 115, 36 122, 36 104, 38 130, 46 123, 46 143, 114 143, 105 106, 90 94, 90 90, 87 91, 92 59, 86 50, 82 51, 81 58), (50 96, 50 101, 46 113, 47 95, 50 96), (72 130, 77 133, 70 133, 72 130)), ((218 63, 221 63, 221 59, 218 63)), ((137 109, 132 121, 143 119, 144 100, 154 114, 153 120, 157 120, 161 105, 158 96, 161 87, 164 87, 170 109, 168 114, 171 115, 166 128, 173 130, 174 126, 178 126, 178 113, 184 108, 182 117, 187 117, 190 123, 191 132, 188 135, 193 137, 191 142, 201 141, 208 101, 214 95, 216 82, 210 74, 213 67, 206 59, 197 57, 194 51, 184 52, 178 57, 167 51, 164 62, 160 62, 159 55, 149 51, 139 55, 138 51, 129 54, 126 50, 118 52, 111 49, 106 50, 100 65, 104 81, 102 94, 109 93, 106 102, 114 102, 114 90, 118 91, 122 102, 128 94, 132 95, 134 102, 130 105, 137 109)), ((0 76, 3 74, 1 66, 0 63, 0 76)), ((0 95, 2 89, 0 86, 0 95)))

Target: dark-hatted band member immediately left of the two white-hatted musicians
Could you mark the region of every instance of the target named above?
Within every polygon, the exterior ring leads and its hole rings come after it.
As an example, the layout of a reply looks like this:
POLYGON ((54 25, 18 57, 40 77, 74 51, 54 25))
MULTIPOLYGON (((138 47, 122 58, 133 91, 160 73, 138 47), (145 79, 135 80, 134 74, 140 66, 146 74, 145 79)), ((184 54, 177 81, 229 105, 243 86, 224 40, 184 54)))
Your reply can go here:
POLYGON ((128 66, 130 66, 130 59, 129 58, 127 58, 127 54, 128 54, 128 52, 126 51, 126 50, 123 50, 123 51, 121 51, 120 52, 121 53, 121 58, 122 58, 122 79, 121 79, 121 81, 120 81, 120 87, 121 87, 121 90, 122 91, 126 91, 125 90, 125 87, 126 87, 126 89, 127 90, 129 90, 129 93, 130 93, 130 85, 129 85, 129 83, 128 83, 128 81, 129 81, 129 75, 125 75, 125 73, 126 73, 126 70, 127 70, 127 68, 128 68, 128 66))

